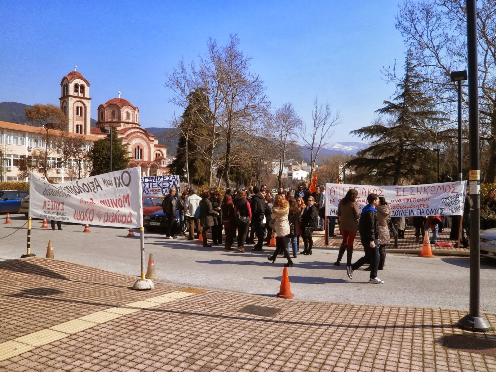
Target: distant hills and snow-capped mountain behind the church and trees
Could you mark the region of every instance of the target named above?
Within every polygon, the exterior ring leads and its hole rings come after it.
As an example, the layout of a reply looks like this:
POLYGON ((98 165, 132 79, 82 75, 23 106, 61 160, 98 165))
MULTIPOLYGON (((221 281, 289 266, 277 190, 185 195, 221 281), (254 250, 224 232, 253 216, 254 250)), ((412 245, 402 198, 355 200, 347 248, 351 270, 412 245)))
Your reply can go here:
MULTIPOLYGON (((18 102, 0 102, 0 121, 28 124, 26 116, 24 115, 24 108, 28 106, 18 102)), ((95 126, 96 120, 91 119, 91 125, 95 126)), ((179 134, 175 133, 174 128, 158 128, 149 127, 144 128, 158 138, 161 145, 167 146, 167 155, 176 156, 177 143, 179 141, 179 134)), ((298 143, 297 152, 300 154, 301 160, 310 162, 310 150, 308 150, 303 143, 298 143)), ((358 151, 365 148, 367 145, 361 142, 328 142, 322 145, 317 163, 322 156, 332 155, 356 155, 358 151)))

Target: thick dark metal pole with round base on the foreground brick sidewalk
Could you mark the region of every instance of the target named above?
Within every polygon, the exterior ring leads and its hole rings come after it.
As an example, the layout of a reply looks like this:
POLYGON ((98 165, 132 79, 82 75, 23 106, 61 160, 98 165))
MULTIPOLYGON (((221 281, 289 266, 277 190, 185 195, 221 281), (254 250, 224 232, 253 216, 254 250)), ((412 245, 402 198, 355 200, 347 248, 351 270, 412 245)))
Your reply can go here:
POLYGON ((468 47, 468 97, 470 144, 470 309, 459 320, 462 328, 486 332, 491 324, 480 316, 480 170, 479 170, 479 80, 477 74, 477 7, 476 0, 466 0, 468 47))

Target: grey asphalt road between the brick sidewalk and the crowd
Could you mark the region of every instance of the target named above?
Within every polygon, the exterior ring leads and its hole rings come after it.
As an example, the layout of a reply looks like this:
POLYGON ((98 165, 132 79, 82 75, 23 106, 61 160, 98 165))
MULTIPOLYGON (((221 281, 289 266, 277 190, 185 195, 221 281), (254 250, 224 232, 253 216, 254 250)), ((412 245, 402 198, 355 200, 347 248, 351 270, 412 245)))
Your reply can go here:
MULTIPOLYGON (((0 259, 19 258, 26 251, 26 220, 11 216, 3 224, 0 216, 0 259), (24 225, 24 226, 23 226, 24 225), (11 235, 10 235, 11 234, 11 235), (10 236, 9 236, 10 235, 10 236)), ((63 231, 41 229, 33 221, 31 252, 44 257, 52 240, 55 259, 139 276, 140 239, 127 238, 127 230, 81 225, 63 225, 63 231)), ((50 224, 49 224, 50 226, 50 224)), ((160 281, 202 288, 273 296, 286 260, 267 260, 274 248, 263 252, 226 251, 223 247, 203 248, 200 244, 165 239, 162 234, 145 232, 145 270, 148 254, 153 253, 160 281)), ((363 254, 356 250, 354 261, 363 254)), ((289 268, 291 291, 296 299, 339 303, 469 309, 469 259, 466 257, 421 258, 388 254, 384 271, 378 276, 384 284, 368 284, 369 273, 357 270, 354 279, 346 276, 345 266, 334 266, 337 250, 314 248, 311 256, 300 255, 289 268)), ((481 259, 481 312, 496 312, 496 260, 481 259)), ((131 286, 133 283, 129 283, 131 286)), ((302 309, 305 311, 305 309, 302 309)))

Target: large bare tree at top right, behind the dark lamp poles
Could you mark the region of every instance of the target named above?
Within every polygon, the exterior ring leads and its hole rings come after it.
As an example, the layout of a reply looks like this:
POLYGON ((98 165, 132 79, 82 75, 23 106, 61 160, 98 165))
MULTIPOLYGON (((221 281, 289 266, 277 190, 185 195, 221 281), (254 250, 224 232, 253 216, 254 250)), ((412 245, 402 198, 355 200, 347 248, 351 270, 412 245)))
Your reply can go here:
MULTIPOLYGON (((496 181, 496 1, 480 0, 477 7, 479 62, 480 139, 488 146, 489 158, 483 177, 496 181)), ((396 16, 396 28, 405 44, 423 62, 422 74, 429 80, 429 93, 444 111, 451 113, 451 127, 456 124, 456 83, 452 71, 467 65, 467 25, 464 0, 407 0, 396 16)), ((467 90, 464 89, 464 94, 467 90)), ((465 97, 464 97, 465 98, 465 97)), ((464 99, 466 103, 466 99, 464 99)), ((456 131, 446 131, 456 136, 456 131)), ((465 131, 467 133, 467 131, 465 131)), ((466 137, 466 136, 465 136, 466 137)))

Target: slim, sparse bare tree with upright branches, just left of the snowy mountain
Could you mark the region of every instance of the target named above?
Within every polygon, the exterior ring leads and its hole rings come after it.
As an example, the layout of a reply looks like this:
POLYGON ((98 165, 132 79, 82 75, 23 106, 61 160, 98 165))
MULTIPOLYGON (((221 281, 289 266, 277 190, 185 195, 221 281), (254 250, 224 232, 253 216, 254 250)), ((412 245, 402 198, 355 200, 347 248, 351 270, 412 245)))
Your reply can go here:
POLYGON ((313 177, 317 156, 322 149, 322 145, 333 134, 331 128, 341 123, 339 111, 333 112, 331 105, 326 102, 318 104, 317 99, 313 101, 314 111, 312 112, 312 127, 303 135, 305 147, 310 150, 310 174, 309 178, 313 177))

